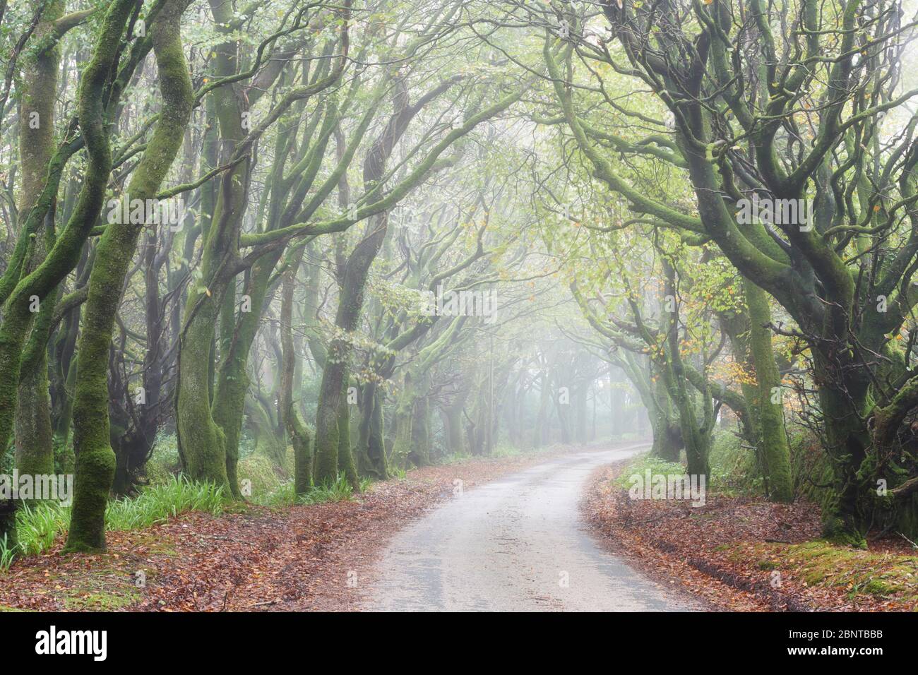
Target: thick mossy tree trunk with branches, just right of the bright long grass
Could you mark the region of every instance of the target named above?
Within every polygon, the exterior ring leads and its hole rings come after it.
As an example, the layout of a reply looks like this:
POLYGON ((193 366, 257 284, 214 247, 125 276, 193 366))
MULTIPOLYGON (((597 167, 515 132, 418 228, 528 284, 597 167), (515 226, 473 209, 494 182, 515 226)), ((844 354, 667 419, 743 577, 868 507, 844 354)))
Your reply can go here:
MULTIPOLYGON (((232 27, 236 21, 233 7, 220 0, 211 0, 210 8, 220 27, 218 30, 226 37, 215 48, 216 71, 220 76, 232 76, 238 71, 238 57, 243 49, 236 28, 232 27)), ((340 41, 346 55, 348 23, 346 9, 342 10, 342 16, 345 17, 345 20, 342 22, 340 41)), ((334 40, 330 40, 329 49, 333 43, 334 40)), ((325 56, 330 56, 330 51, 326 51, 325 56)), ((329 59, 322 60, 309 84, 289 92, 288 96, 285 96, 280 104, 274 107, 273 120, 276 121, 280 113, 284 112, 287 107, 295 103, 301 104, 308 96, 318 94, 335 84, 341 77, 345 59, 342 56, 335 59, 334 62, 335 65, 332 67, 329 59)), ((242 161, 233 170, 227 172, 221 181, 216 215, 205 241, 204 264, 202 265, 204 283, 196 289, 194 295, 189 294, 189 309, 186 311, 185 318, 186 328, 180 345, 181 384, 177 416, 182 456, 186 460, 185 467, 189 471, 200 472, 201 478, 212 477, 222 481, 236 497, 241 496, 236 471, 239 461, 242 415, 249 385, 246 366, 263 309, 268 304, 267 295, 271 287, 274 267, 284 253, 283 246, 269 246, 263 249, 261 255, 252 256, 250 262, 241 264, 239 239, 242 219, 247 207, 251 163, 249 159, 242 159, 245 155, 240 153, 252 150, 251 138, 254 130, 252 134, 247 132, 245 116, 250 114, 250 108, 254 102, 262 96, 264 91, 267 91, 267 86, 272 84, 282 71, 283 69, 275 66, 264 69, 258 86, 249 87, 244 92, 233 84, 219 86, 213 92, 220 140, 226 155, 223 159, 241 159, 242 161), (236 276, 243 268, 247 270, 247 273, 242 295, 247 302, 251 303, 251 311, 240 311, 237 318, 237 315, 234 314, 236 276), (219 305, 219 309, 207 307, 208 305, 219 305), (219 366, 215 376, 208 380, 214 382, 212 404, 205 408, 192 399, 194 392, 203 388, 204 375, 196 366, 190 368, 188 366, 191 360, 203 357, 203 333, 208 328, 213 331, 215 325, 213 319, 218 315, 221 318, 218 344, 219 366), (217 462, 222 462, 224 465, 222 469, 216 466, 217 462)), ((307 72, 308 69, 304 69, 304 77, 307 72)), ((301 107, 297 109, 297 112, 301 109, 301 107)), ((274 185, 281 187, 274 189, 272 193, 271 216, 278 216, 276 208, 278 203, 288 197, 289 202, 285 204, 285 212, 282 216, 279 216, 278 219, 271 219, 268 230, 309 219, 330 190, 326 184, 333 185, 335 179, 330 178, 310 199, 307 207, 300 208, 312 180, 319 172, 324 156, 324 144, 330 135, 331 123, 337 119, 336 108, 328 106, 328 110, 326 126, 323 127, 318 138, 311 143, 304 141, 304 151, 308 150, 308 152, 305 152, 304 157, 298 158, 300 161, 297 162, 297 171, 290 176, 283 176, 282 167, 286 151, 281 152, 280 157, 276 158, 274 185), (293 197, 285 194, 288 190, 293 197)), ((318 121, 319 118, 316 119, 318 121)), ((265 128, 259 127, 259 134, 265 128)), ((278 145, 275 148, 289 149, 290 143, 286 139, 286 134, 280 134, 278 145)), ((343 171, 346 165, 347 163, 344 163, 335 171, 343 171)), ((212 359, 208 363, 212 363, 212 359)))

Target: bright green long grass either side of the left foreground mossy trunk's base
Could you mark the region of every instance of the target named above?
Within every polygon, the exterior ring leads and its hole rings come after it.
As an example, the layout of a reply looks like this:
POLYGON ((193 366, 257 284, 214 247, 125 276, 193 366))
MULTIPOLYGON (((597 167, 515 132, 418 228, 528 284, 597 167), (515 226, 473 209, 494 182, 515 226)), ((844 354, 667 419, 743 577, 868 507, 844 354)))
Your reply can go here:
MULTIPOLYGON (((140 530, 163 523, 179 513, 203 511, 217 515, 223 511, 223 489, 213 483, 198 483, 172 477, 160 485, 143 489, 137 497, 110 501, 106 509, 106 529, 112 532, 140 530)), ((17 511, 17 546, 0 541, 0 569, 9 568, 17 556, 38 556, 54 539, 67 530, 70 507, 56 501, 24 506, 17 511)))

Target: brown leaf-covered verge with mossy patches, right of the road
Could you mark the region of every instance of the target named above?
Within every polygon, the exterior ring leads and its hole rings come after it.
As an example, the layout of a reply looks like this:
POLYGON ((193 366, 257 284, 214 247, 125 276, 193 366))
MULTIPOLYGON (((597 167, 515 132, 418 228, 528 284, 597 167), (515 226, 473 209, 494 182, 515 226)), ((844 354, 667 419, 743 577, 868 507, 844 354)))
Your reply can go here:
POLYGON ((918 610, 918 547, 902 536, 837 546, 820 538, 810 498, 769 502, 718 480, 701 507, 629 499, 627 477, 653 461, 601 469, 582 506, 604 545, 664 583, 731 611, 918 610))

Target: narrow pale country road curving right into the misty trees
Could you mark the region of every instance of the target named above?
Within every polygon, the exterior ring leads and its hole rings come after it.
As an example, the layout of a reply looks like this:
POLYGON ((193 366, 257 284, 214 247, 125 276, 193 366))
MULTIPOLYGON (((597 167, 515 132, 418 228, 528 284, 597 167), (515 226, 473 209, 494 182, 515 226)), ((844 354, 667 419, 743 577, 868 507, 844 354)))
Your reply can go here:
POLYGON ((393 537, 363 609, 702 609, 603 551, 580 522, 590 473, 645 447, 550 459, 454 497, 393 537))

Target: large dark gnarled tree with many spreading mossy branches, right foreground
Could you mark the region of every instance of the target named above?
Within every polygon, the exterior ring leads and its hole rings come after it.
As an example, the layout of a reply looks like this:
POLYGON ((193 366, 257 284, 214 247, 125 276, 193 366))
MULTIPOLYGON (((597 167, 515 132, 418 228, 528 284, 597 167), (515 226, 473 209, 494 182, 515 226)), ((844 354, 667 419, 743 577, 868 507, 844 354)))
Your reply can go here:
MULTIPOLYGON (((673 13, 677 11, 664 10, 668 18, 663 20, 672 19, 671 25, 677 27, 673 13)), ((812 354, 823 444, 835 472, 837 506, 823 511, 823 531, 857 544, 864 543, 866 528, 876 515, 875 481, 882 478, 876 469, 886 461, 886 448, 872 443, 868 425, 875 409, 895 398, 911 378, 894 341, 906 329, 915 305, 914 294, 904 291, 912 283, 918 253, 918 237, 905 236, 889 257, 875 254, 892 231, 885 202, 894 193, 898 197, 893 200, 903 200, 899 204, 914 195, 918 152, 908 134, 879 150, 883 141, 877 107, 860 118, 845 118, 852 101, 867 96, 875 85, 872 66, 898 62, 898 51, 889 45, 872 55, 876 61, 866 65, 866 75, 864 63, 856 63, 858 44, 882 41, 887 30, 885 26, 872 27, 867 34, 858 30, 863 11, 861 4, 849 3, 838 17, 827 18, 816 6, 806 6, 800 14, 808 36, 804 53, 780 55, 767 19, 758 15, 760 49, 750 53, 770 53, 772 66, 762 71, 763 86, 769 93, 789 93, 769 97, 762 107, 759 88, 738 84, 737 77, 750 62, 733 59, 731 54, 739 52, 725 46, 735 38, 729 35, 733 30, 729 22, 710 21, 700 33, 690 35, 680 28, 651 35, 653 22, 640 28, 628 12, 611 3, 604 6, 609 27, 630 62, 637 64, 644 82, 652 83, 655 94, 674 113, 675 153, 670 161, 686 170, 697 217, 655 201, 616 174, 607 155, 588 138, 559 62, 547 47, 543 51, 565 120, 600 180, 667 227, 714 242, 740 274, 775 298, 797 323, 812 354), (830 37, 834 28, 839 29, 838 36, 830 37), (700 67, 691 73, 680 70, 678 64, 684 61, 680 54, 701 43, 711 45, 711 50, 705 52, 700 67), (800 62, 819 58, 826 62, 823 73, 800 67, 800 62), (811 96, 811 84, 817 81, 828 83, 818 95, 822 98, 813 98, 812 123, 819 132, 798 161, 795 150, 780 139, 799 107, 796 94, 811 96), (718 119, 722 113, 708 104, 709 95, 728 107, 748 134, 749 153, 755 158, 752 179, 744 176, 746 159, 733 154, 733 133, 723 132, 718 119), (887 164, 890 158, 895 160, 887 164), (845 172, 853 166, 856 171, 845 172), (809 226, 797 227, 802 221, 783 223, 777 237, 758 221, 741 226, 737 202, 753 191, 781 201, 811 202, 809 226), (857 198, 839 198, 842 194, 857 198), (836 228, 839 222, 862 222, 866 227, 849 231, 836 228), (845 255, 846 246, 855 247, 856 255, 845 255), (879 298, 884 302, 889 298, 890 307, 879 309, 879 298), (893 354, 891 360, 888 354, 893 354)), ((564 52, 565 65, 571 63, 572 52, 564 52)), ((906 230, 913 229, 918 214, 910 213, 906 222, 906 230)))

